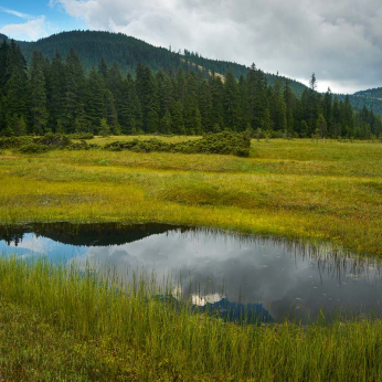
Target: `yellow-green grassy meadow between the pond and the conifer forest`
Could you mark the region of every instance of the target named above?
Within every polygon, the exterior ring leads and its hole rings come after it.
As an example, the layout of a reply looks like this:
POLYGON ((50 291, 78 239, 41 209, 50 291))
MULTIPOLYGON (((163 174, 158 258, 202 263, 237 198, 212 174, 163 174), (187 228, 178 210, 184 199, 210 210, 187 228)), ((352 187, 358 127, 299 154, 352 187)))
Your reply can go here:
POLYGON ((6 150, 0 221, 156 221, 381 254, 381 161, 382 145, 361 141, 253 141, 250 158, 6 150))

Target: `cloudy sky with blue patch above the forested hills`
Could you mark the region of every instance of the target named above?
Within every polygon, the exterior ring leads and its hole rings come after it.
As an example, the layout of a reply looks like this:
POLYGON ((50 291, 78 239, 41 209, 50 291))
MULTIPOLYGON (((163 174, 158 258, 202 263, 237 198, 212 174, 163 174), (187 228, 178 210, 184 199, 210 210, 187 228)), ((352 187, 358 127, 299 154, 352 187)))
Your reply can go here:
POLYGON ((121 32, 335 93, 382 86, 381 0, 0 0, 0 33, 121 32))

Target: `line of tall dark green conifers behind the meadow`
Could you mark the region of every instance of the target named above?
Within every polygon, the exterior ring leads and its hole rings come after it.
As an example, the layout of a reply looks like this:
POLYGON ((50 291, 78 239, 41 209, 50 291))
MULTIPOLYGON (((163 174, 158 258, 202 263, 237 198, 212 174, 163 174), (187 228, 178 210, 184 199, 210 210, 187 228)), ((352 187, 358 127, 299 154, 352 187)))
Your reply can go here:
POLYGON ((31 63, 20 46, 0 46, 0 135, 46 132, 177 134, 252 131, 269 137, 348 137, 370 139, 382 134, 382 120, 363 108, 354 113, 349 97, 310 87, 300 98, 290 84, 269 86, 252 65, 238 81, 187 67, 152 72, 138 64, 124 76, 102 59, 85 73, 74 50, 65 60, 33 52, 31 63))

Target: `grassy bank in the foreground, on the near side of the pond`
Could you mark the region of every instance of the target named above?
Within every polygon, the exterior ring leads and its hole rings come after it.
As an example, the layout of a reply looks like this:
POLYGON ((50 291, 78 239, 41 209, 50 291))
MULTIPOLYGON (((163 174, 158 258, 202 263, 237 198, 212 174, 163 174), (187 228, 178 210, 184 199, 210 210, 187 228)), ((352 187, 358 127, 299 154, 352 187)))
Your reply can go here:
POLYGON ((14 381, 378 381, 382 322, 237 326, 121 286, 0 259, 0 378, 14 381), (106 286, 108 284, 108 287, 106 286))

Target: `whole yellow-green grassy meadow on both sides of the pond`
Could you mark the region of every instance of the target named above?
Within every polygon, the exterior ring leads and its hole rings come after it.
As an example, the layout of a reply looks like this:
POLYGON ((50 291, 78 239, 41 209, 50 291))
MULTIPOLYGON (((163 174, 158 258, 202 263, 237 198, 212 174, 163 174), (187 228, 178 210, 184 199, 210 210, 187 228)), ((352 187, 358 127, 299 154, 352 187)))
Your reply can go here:
MULTIPOLYGON (((92 142, 116 139, 131 137, 92 142)), ((253 140, 250 158, 2 150, 0 222, 162 222, 330 241, 378 256, 381 162, 380 142, 335 140, 253 140)), ((1 259, 0 380, 382 378, 380 320, 235 325, 163 305, 146 276, 134 285, 110 277, 1 259)))

